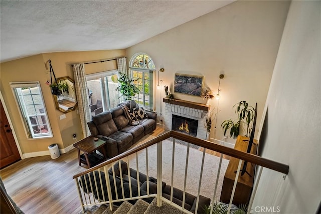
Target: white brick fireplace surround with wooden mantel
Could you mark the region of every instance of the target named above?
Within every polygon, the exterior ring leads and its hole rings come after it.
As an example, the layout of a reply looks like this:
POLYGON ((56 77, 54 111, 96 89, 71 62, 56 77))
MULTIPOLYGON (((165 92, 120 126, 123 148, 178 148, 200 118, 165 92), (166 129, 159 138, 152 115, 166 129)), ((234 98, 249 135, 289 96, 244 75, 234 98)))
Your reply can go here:
POLYGON ((179 115, 182 117, 188 117, 198 120, 197 126, 197 138, 205 139, 206 128, 206 117, 208 116, 209 106, 201 103, 189 102, 185 100, 171 100, 168 103, 168 99, 163 99, 165 111, 164 111, 164 128, 165 130, 172 129, 172 114, 179 115))

